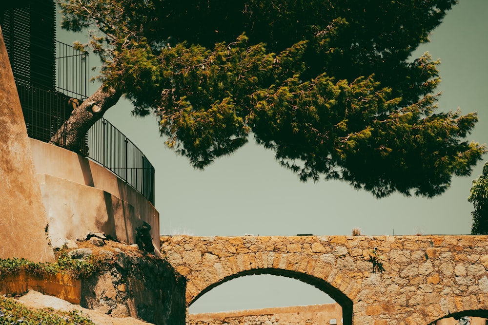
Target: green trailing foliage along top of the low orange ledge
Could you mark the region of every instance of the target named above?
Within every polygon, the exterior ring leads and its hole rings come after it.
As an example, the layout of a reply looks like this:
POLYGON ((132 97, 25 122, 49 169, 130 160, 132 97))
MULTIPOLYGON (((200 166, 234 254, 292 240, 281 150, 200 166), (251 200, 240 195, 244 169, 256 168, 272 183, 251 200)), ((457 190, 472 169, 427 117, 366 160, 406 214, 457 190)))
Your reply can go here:
POLYGON ((0 259, 0 279, 25 271, 27 274, 49 276, 68 273, 75 278, 87 278, 102 268, 100 257, 90 255, 86 259, 72 259, 66 249, 61 249, 55 263, 35 263, 23 258, 0 259))

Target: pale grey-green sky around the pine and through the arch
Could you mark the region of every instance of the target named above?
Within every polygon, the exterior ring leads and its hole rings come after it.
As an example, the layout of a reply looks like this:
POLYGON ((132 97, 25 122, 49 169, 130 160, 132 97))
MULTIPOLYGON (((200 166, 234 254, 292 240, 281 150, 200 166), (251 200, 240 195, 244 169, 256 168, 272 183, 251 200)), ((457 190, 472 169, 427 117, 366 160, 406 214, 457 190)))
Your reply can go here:
MULTIPOLYGON (((431 42, 415 53, 440 58, 443 95, 439 111, 478 112, 469 140, 488 142, 488 1, 460 0, 433 31, 431 42)), ((59 32, 72 43, 80 36, 59 32)), ((92 62, 95 57, 92 56, 92 62)), ((91 86, 95 91, 96 86, 91 86)), ((155 117, 135 118, 127 101, 105 117, 127 135, 156 169, 156 209, 161 234, 197 236, 351 234, 469 234, 472 204, 467 197, 471 176, 454 177, 451 188, 433 198, 399 194, 376 199, 338 181, 301 183, 275 161, 274 154, 250 143, 220 158, 203 172, 164 147, 155 117)), ((484 157, 487 159, 487 157, 484 157)), ((231 280, 203 295, 190 313, 331 302, 323 292, 295 279, 247 276, 231 280), (259 293, 260 294, 256 294, 259 293)))

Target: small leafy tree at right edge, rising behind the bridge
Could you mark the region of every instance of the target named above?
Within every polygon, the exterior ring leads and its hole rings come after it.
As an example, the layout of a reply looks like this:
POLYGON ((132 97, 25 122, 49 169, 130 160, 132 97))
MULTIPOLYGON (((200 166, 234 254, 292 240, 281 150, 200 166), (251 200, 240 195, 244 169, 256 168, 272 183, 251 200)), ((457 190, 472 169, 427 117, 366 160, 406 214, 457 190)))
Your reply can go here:
POLYGON ((472 235, 488 235, 488 162, 483 166, 481 175, 473 180, 468 202, 474 205, 472 235))

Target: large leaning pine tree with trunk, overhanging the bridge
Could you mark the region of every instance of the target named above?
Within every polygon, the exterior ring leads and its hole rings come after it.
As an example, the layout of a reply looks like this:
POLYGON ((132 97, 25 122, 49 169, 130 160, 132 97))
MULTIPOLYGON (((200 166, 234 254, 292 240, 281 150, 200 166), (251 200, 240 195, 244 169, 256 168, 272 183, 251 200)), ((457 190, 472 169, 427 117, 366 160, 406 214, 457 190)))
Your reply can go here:
POLYGON ((439 61, 409 61, 455 0, 59 1, 102 60, 67 147, 123 95, 197 168, 252 133, 301 180, 377 197, 440 194, 486 151, 476 114, 434 113, 439 61))

